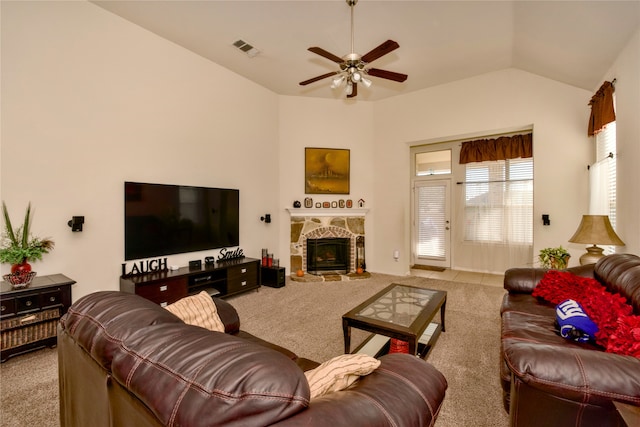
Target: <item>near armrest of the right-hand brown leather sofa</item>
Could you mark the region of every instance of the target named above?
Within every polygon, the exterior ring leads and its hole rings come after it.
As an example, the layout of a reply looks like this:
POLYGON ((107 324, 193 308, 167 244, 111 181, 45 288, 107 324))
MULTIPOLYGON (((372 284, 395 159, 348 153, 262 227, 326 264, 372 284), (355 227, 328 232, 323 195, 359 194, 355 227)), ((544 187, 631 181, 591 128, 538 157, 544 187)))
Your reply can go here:
POLYGON ((503 340, 504 360, 523 383, 574 402, 640 405, 640 359, 593 349, 503 340))

